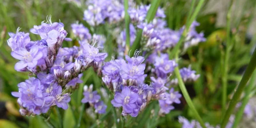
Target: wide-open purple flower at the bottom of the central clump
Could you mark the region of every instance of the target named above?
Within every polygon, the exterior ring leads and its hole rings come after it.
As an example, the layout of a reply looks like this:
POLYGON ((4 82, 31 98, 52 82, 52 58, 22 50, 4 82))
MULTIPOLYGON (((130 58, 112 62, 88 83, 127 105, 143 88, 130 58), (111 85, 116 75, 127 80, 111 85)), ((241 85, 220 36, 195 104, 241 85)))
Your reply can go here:
POLYGON ((129 87, 124 86, 121 93, 116 92, 111 103, 114 107, 122 106, 123 111, 126 113, 133 113, 137 108, 136 101, 138 100, 138 97, 139 95, 137 93, 131 92, 129 87))

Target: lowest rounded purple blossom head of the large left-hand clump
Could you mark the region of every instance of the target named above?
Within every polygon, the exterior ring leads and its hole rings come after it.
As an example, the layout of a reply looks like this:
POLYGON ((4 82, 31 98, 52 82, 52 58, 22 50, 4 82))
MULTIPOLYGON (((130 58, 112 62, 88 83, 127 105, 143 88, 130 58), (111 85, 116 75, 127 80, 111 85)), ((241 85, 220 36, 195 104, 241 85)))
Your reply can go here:
POLYGON ((31 77, 18 84, 18 87, 19 92, 12 92, 12 95, 18 97, 20 112, 23 116, 46 113, 54 105, 63 109, 68 108, 70 95, 63 94, 61 86, 41 84, 39 79, 31 77))

